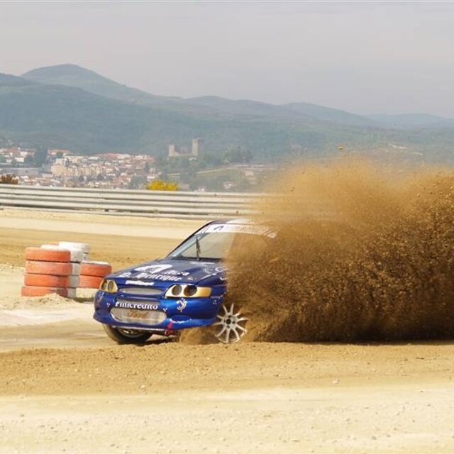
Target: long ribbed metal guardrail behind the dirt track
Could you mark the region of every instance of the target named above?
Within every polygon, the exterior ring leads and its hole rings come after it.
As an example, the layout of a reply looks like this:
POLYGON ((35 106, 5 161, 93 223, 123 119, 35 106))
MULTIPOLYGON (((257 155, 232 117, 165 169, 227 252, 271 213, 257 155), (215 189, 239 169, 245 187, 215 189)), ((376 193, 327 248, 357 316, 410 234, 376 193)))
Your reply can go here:
POLYGON ((0 184, 0 208, 167 218, 235 218, 253 213, 253 201, 263 195, 0 184))

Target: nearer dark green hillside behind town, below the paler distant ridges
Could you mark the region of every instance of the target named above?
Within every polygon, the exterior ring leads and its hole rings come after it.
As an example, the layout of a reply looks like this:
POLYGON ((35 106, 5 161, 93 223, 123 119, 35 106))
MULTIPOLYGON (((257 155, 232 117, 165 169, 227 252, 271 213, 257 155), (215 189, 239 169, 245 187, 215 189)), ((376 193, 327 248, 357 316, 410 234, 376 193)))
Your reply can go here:
POLYGON ((223 153, 231 146, 253 151, 260 160, 277 159, 292 146, 307 155, 334 153, 338 143, 369 143, 380 131, 328 126, 316 120, 267 116, 208 116, 109 99, 82 89, 0 78, 0 133, 28 146, 162 155, 169 143, 204 140, 204 149, 223 153))

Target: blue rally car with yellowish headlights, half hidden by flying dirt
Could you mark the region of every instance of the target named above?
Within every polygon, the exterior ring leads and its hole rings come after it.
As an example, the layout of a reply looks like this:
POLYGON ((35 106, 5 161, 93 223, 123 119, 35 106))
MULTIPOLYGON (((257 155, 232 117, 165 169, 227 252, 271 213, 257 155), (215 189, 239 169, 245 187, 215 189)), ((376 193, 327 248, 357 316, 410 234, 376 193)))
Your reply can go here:
POLYGON ((218 341, 240 341, 248 319, 224 301, 223 260, 251 235, 270 240, 275 231, 248 219, 214 221, 167 257, 106 276, 94 298, 94 319, 118 343, 144 343, 153 334, 173 336, 210 325, 218 341))

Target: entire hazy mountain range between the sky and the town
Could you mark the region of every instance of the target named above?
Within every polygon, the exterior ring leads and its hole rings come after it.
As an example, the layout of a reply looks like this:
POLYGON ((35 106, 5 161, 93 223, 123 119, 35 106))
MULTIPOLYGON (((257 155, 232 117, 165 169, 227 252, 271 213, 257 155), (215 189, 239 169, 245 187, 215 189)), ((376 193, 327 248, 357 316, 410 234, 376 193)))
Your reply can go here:
POLYGON ((0 145, 70 148, 77 153, 165 155, 167 145, 202 139, 203 150, 250 150, 258 161, 284 154, 324 157, 397 143, 427 160, 450 160, 454 121, 430 114, 360 116, 307 103, 274 105, 202 96, 157 96, 77 65, 21 77, 0 74, 0 145))

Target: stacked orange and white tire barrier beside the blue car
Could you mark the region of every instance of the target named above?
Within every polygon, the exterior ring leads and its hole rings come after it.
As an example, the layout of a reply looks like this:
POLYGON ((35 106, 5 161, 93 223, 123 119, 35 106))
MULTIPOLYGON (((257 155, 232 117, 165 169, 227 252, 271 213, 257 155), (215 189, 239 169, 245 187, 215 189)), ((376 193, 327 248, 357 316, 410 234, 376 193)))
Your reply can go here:
POLYGON ((60 242, 26 249, 23 297, 59 294, 74 299, 77 288, 96 289, 112 271, 107 262, 89 260, 90 245, 60 242))

